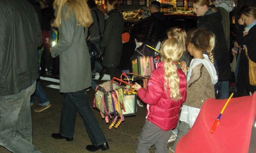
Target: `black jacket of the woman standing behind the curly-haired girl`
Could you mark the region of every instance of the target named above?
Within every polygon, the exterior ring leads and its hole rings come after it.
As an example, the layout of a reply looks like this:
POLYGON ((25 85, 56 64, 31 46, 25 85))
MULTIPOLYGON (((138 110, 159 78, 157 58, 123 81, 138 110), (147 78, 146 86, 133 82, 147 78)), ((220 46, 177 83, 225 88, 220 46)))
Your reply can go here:
POLYGON ((205 28, 215 34, 215 48, 213 54, 218 66, 218 81, 230 80, 229 49, 226 45, 224 30, 222 27, 222 16, 219 11, 213 12, 209 9, 203 16, 198 17, 197 27, 205 28))

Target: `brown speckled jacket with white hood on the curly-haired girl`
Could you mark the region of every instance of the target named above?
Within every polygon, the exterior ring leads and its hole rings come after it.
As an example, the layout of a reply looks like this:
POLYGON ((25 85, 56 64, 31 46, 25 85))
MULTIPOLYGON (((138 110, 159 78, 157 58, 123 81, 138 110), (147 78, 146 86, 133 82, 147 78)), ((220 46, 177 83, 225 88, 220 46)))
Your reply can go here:
POLYGON ((193 59, 188 69, 188 95, 184 105, 190 107, 201 108, 205 100, 215 97, 214 84, 218 81, 216 70, 208 55, 203 56, 204 59, 193 59))

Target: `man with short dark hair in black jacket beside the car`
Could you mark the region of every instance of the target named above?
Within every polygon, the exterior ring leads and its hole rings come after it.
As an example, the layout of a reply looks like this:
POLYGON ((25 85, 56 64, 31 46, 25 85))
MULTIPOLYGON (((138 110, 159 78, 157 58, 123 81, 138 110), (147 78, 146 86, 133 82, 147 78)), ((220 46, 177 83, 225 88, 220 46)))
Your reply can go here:
POLYGON ((160 12, 160 2, 153 1, 150 5, 151 17, 148 20, 148 27, 145 33, 146 41, 157 41, 163 36, 164 15, 160 12))

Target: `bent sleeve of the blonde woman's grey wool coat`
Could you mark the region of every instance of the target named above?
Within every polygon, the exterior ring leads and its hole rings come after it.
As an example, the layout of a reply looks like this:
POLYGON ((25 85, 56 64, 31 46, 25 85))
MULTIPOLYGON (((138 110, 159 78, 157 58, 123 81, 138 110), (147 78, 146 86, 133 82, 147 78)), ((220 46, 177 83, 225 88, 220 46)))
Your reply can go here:
POLYGON ((73 13, 70 14, 69 17, 65 19, 66 9, 62 8, 61 11, 61 27, 59 28, 60 39, 58 43, 52 48, 51 55, 52 57, 56 57, 61 54, 63 51, 66 51, 71 47, 74 39, 74 31, 76 27, 75 15, 73 13))

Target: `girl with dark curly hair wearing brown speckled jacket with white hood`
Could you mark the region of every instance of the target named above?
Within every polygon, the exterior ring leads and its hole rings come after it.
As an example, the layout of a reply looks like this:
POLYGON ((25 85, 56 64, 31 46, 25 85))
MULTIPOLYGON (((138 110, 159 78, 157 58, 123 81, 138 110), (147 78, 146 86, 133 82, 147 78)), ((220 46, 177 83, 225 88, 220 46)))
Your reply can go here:
POLYGON ((189 69, 186 62, 181 62, 182 71, 187 74, 187 98, 181 110, 179 133, 170 148, 172 152, 180 138, 193 126, 205 100, 215 97, 214 84, 218 81, 213 65, 214 34, 204 29, 194 30, 188 33, 186 45, 189 54, 194 58, 189 69), (207 52, 209 57, 203 54, 204 52, 207 52))

